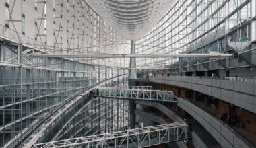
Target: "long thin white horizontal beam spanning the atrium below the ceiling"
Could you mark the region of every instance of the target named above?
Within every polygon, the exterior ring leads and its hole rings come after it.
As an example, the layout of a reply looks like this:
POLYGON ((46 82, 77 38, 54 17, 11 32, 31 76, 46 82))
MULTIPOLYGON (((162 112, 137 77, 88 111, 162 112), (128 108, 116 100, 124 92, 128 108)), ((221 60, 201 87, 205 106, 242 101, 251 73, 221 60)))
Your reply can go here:
POLYGON ((24 54, 23 57, 49 57, 49 58, 171 58, 171 57, 233 57, 233 54, 24 54))

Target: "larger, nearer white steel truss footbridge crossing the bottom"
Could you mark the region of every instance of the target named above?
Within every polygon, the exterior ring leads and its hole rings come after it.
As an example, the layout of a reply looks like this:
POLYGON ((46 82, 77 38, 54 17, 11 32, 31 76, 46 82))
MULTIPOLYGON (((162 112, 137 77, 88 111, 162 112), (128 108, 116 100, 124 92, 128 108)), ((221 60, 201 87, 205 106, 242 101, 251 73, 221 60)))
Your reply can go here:
POLYGON ((150 147, 181 141, 190 137, 187 124, 184 122, 175 122, 146 128, 135 128, 127 131, 39 143, 32 147, 150 147))

